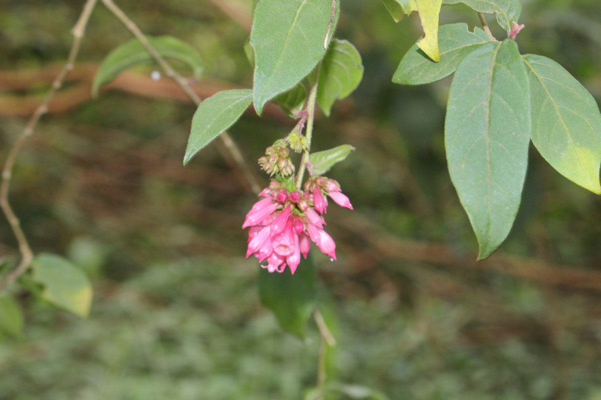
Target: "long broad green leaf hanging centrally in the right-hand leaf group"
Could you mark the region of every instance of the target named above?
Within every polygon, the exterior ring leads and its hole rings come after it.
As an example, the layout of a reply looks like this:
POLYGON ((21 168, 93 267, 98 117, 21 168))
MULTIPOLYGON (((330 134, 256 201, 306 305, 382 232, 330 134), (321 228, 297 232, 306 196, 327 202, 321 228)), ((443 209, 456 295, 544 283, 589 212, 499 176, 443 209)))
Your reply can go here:
POLYGON ((513 40, 484 44, 457 67, 445 147, 451 180, 488 257, 505 240, 522 196, 530 139, 528 74, 513 40))

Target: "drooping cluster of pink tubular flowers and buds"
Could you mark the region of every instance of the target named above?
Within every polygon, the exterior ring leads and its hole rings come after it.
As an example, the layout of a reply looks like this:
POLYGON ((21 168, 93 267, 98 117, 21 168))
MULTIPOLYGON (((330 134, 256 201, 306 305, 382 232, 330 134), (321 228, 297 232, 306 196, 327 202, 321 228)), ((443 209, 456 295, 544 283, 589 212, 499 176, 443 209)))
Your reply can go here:
POLYGON ((252 206, 242 225, 242 229, 250 227, 246 258, 254 254, 259 263, 267 261, 261 267, 269 272, 282 273, 288 266, 294 273, 301 254, 306 259, 313 242, 323 254, 336 260, 334 239, 323 230, 326 224, 323 215, 328 209, 324 194, 339 206, 353 209, 333 179, 310 179, 302 193, 288 191, 280 182, 272 180, 259 194, 264 199, 252 206))

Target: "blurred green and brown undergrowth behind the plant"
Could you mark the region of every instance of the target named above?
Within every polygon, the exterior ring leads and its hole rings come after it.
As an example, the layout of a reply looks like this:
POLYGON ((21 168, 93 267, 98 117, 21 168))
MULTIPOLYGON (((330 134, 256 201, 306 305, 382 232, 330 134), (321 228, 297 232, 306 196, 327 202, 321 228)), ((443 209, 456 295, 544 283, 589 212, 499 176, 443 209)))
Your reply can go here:
MULTIPOLYGON (((82 3, 0 0, 2 159, 66 60, 82 3)), ((317 118, 314 139, 316 150, 357 148, 329 173, 355 206, 330 207, 338 261, 316 257, 337 326, 332 381, 394 400, 601 399, 599 197, 532 151, 513 231, 475 263, 445 165, 450 80, 390 82, 418 17, 395 24, 379 0, 341 3, 337 37, 358 47, 365 76, 332 118, 317 118)), ((204 97, 252 85, 251 0, 117 4, 145 33, 198 49, 204 97)), ((522 5, 522 53, 555 59, 599 101, 600 2, 522 5)), ((445 6, 450 22, 478 17, 445 6)), ((319 337, 313 323, 306 342, 282 332, 260 305, 240 230, 256 198, 242 174, 218 143, 182 166, 194 106, 151 80, 153 65, 90 98, 97 65, 129 39, 97 5, 78 65, 17 161, 11 200, 33 248, 73 260, 95 297, 81 320, 13 291, 26 327, 0 341, 0 399, 301 399, 316 383, 319 337)), ((293 126, 270 109, 231 129, 264 184, 255 160, 293 126)), ((0 257, 17 257, 6 223, 0 257)), ((339 398, 368 398, 360 392, 339 398)))

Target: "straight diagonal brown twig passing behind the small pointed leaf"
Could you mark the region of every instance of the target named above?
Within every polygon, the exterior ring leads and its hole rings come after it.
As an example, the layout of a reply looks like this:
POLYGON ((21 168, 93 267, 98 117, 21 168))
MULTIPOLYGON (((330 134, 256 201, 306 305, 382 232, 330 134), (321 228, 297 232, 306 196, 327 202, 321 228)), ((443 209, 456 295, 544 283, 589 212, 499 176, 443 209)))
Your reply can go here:
MULTIPOLYGON (((113 13, 114 16, 117 17, 117 19, 120 20, 121 23, 123 23, 123 25, 125 25, 125 27, 132 33, 132 35, 136 39, 138 39, 140 43, 142 43, 142 46, 144 46, 147 52, 150 53, 154 61, 156 61, 157 64, 159 64, 159 67, 162 68, 163 71, 165 71, 165 75, 174 80, 174 82, 177 83, 177 85, 180 86, 180 88, 182 88, 186 95, 188 95, 188 97, 192 101, 194 101, 194 103, 198 106, 198 104, 200 104, 202 100, 191 88, 191 86, 188 83, 188 80, 186 80, 183 76, 178 74, 171 67, 171 65, 167 61, 165 61, 165 59, 148 42, 148 39, 145 37, 142 31, 140 31, 138 26, 131 19, 129 19, 129 17, 121 10, 121 8, 117 7, 117 5, 112 0, 100 1, 102 1, 106 8, 108 8, 108 10, 111 11, 111 13, 113 13)), ((261 187, 258 184, 257 178, 252 173, 252 169, 248 166, 248 164, 246 164, 242 152, 240 152, 240 149, 238 148, 234 140, 231 138, 230 134, 224 132, 221 135, 219 135, 219 138, 224 143, 225 148, 227 148, 227 150, 230 152, 231 157, 237 164, 237 167, 239 167, 240 171, 242 171, 242 173, 244 174, 246 181, 248 181, 248 184, 251 187, 251 190, 256 194, 260 193, 261 187)))

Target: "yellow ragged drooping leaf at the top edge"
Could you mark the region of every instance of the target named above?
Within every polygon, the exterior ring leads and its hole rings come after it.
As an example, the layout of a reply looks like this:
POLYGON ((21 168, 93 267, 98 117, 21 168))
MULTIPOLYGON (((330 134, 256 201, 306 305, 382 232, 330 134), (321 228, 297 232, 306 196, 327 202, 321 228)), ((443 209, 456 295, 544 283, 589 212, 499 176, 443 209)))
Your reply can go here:
POLYGON ((419 49, 423 50, 433 61, 441 61, 438 50, 438 16, 441 13, 442 0, 382 0, 392 18, 399 21, 403 14, 412 11, 419 13, 424 38, 418 41, 419 49))

